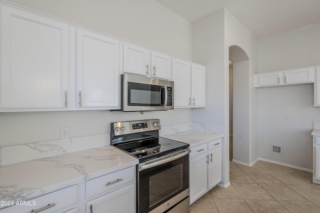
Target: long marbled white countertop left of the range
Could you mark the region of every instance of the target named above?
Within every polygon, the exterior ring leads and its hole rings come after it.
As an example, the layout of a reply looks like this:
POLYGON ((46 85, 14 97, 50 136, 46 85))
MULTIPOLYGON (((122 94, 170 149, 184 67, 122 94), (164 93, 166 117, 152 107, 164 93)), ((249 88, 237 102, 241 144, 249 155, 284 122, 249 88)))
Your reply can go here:
POLYGON ((2 166, 0 201, 27 201, 136 164, 138 159, 104 146, 2 166))

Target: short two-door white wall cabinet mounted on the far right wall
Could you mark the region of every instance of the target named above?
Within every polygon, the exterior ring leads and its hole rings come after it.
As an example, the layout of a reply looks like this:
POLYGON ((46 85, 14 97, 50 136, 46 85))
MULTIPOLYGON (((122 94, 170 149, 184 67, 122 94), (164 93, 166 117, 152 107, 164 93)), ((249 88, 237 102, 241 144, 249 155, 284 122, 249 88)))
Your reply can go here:
POLYGON ((254 75, 254 87, 284 86, 314 82, 315 67, 257 73, 254 75))

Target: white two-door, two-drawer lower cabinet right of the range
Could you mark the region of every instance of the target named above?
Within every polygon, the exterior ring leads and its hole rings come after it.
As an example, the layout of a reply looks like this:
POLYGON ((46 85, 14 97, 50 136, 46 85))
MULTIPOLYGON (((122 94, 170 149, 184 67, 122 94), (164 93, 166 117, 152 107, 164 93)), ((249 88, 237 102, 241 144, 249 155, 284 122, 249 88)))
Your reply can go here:
POLYGON ((221 181, 221 139, 192 147, 191 153, 190 204, 221 181))

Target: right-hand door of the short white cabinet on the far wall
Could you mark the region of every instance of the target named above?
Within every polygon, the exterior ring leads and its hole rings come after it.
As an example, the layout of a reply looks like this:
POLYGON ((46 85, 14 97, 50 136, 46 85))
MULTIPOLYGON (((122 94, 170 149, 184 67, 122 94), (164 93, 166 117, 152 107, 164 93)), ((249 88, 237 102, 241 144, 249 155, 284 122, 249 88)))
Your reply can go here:
POLYGON ((284 71, 284 83, 311 83, 314 82, 314 67, 305 67, 284 71))

